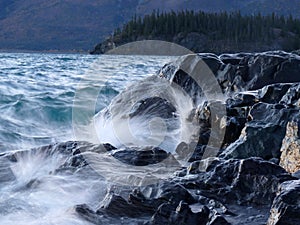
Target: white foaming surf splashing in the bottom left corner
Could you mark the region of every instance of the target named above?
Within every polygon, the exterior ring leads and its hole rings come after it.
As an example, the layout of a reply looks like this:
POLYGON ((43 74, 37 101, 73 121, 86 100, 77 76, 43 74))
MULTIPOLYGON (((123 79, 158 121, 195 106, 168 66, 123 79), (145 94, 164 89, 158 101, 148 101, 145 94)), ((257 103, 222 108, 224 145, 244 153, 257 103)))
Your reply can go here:
POLYGON ((96 206, 105 194, 101 177, 86 168, 59 170, 66 154, 36 149, 1 158, 0 221, 2 224, 87 224, 78 204, 96 206))

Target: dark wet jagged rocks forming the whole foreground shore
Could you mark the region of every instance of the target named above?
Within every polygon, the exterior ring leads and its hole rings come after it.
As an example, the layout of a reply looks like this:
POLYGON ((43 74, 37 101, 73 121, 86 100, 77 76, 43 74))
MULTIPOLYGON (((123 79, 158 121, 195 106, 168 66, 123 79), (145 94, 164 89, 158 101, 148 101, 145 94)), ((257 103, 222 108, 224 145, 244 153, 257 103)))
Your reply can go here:
MULTIPOLYGON (((154 184, 110 185, 97 208, 74 206, 79 217, 92 224, 300 224, 300 56, 280 51, 198 56, 226 99, 203 102, 195 110, 202 128, 199 140, 181 143, 176 150, 193 145, 188 165, 154 184), (226 108, 224 118, 211 117, 216 104, 226 108), (219 148, 209 146, 209 139, 217 135, 212 123, 225 131, 219 148), (217 148, 216 156, 203 157, 207 148, 217 148)), ((158 76, 182 87, 196 102, 203 91, 178 68, 170 63, 158 76)), ((84 157, 89 151, 106 152, 135 166, 156 164, 169 155, 158 147, 138 148, 67 142, 31 151, 61 152, 64 163, 53 173, 92 173, 84 157)), ((5 153, 0 159, 14 163, 18 154, 23 153, 5 153)), ((3 168, 0 180, 14 179, 9 168, 3 168)))

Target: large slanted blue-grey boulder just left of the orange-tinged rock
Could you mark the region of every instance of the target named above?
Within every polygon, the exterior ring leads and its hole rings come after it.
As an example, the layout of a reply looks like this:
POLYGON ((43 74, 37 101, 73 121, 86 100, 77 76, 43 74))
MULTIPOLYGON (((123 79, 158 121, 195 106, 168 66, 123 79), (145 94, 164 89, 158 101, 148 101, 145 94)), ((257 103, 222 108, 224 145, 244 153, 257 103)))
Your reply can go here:
POLYGON ((225 158, 279 158, 287 122, 298 112, 283 105, 258 103, 250 112, 241 136, 220 155, 225 158), (263 138, 261 138, 263 137, 263 138))

